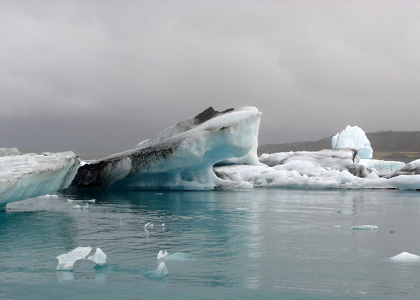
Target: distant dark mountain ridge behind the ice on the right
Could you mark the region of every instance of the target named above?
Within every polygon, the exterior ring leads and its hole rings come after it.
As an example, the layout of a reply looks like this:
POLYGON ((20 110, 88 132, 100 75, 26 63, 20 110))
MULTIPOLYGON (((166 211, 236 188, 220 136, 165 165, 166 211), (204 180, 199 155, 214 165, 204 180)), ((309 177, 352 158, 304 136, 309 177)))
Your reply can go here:
MULTIPOLYGON (((373 151, 418 152, 420 151, 420 131, 378 131, 367 132, 367 139, 373 151)), ((294 142, 285 144, 264 144, 258 146, 258 155, 288 151, 320 151, 331 149, 331 137, 314 142, 294 142)))

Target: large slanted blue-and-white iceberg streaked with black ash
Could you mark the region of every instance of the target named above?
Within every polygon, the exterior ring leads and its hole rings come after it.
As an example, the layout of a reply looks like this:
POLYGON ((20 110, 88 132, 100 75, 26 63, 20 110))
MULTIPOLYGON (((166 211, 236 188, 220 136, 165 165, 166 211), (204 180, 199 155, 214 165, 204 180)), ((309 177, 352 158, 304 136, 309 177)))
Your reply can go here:
POLYGON ((260 165, 256 146, 261 113, 254 107, 203 113, 141 142, 136 149, 83 165, 72 185, 176 190, 231 187, 236 183, 217 177, 213 166, 230 158, 260 165))

